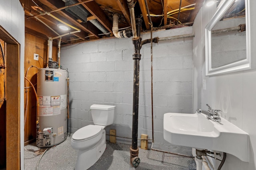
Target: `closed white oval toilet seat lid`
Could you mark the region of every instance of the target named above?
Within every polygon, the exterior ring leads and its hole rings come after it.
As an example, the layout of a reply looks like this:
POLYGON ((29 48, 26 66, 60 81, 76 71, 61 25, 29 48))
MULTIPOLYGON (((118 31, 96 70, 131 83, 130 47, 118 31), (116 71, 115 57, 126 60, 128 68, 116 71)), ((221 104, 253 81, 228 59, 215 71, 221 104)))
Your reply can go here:
POLYGON ((82 142, 90 140, 98 135, 102 134, 102 126, 87 125, 78 129, 72 136, 72 140, 76 142, 82 142))

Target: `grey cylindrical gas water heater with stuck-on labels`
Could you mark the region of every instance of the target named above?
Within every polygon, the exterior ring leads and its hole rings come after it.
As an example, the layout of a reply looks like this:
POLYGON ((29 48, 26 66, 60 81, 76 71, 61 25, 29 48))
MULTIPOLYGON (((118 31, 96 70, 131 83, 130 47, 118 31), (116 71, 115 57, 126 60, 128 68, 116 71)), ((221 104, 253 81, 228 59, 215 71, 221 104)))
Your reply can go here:
POLYGON ((67 138, 67 79, 67 70, 38 69, 39 123, 36 137, 38 147, 51 147, 67 138))

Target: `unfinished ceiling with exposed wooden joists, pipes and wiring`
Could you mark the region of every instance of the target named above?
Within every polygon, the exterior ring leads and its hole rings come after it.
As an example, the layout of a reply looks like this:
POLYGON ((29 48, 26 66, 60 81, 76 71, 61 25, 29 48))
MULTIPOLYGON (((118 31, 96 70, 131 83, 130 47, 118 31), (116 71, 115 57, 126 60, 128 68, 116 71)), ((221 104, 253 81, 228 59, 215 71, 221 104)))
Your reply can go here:
MULTIPOLYGON (((193 25, 204 0, 147 0, 154 30, 193 25)), ((20 0, 25 11, 25 31, 48 39, 64 35, 62 44, 113 38, 113 14, 119 29, 131 26, 127 0, 20 0), (64 23, 70 30, 57 26, 64 23)), ((134 0, 135 17, 142 31, 150 31, 145 0, 134 0)))

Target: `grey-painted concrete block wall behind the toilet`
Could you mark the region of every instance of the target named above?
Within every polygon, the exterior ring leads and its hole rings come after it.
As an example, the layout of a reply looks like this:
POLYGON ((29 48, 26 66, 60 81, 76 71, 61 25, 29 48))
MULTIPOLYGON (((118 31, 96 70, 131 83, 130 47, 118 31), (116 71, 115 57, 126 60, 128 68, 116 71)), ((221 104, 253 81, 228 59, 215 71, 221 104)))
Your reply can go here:
MULTIPOLYGON (((192 33, 192 27, 156 31, 153 37, 192 33)), ((143 34, 142 40, 150 34, 143 34)), ((132 39, 108 39, 63 47, 61 65, 70 76, 68 131, 93 124, 92 104, 115 105, 114 124, 118 142, 131 143, 133 60, 132 39)), ((140 50, 138 137, 152 138, 150 43, 140 50)), ((192 38, 153 44, 154 148, 191 154, 190 149, 171 146, 163 137, 163 115, 192 113, 192 38), (174 150, 173 150, 174 149, 174 150), (178 151, 179 150, 179 151, 178 151)), ((107 136, 108 139, 108 136, 107 136)), ((151 142, 151 141, 149 141, 151 142)))

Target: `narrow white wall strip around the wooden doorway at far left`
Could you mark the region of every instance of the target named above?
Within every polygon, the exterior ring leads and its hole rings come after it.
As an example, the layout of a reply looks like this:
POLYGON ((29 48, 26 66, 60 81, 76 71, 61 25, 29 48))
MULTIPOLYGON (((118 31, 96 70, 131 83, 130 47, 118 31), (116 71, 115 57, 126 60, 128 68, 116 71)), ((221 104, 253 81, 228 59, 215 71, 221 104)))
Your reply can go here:
MULTIPOLYGON (((20 166, 24 169, 24 10, 19 0, 1 0, 0 25, 20 43, 20 166)), ((18 133, 18 132, 17 132, 18 133)))

